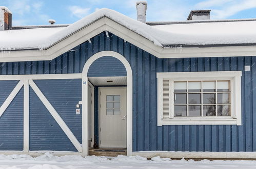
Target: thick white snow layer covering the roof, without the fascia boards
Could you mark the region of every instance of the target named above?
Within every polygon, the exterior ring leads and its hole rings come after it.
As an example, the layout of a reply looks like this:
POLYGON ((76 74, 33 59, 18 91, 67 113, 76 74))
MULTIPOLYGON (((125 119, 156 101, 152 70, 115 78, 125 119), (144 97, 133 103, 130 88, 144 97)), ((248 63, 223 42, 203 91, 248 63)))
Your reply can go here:
POLYGON ((104 16, 160 47, 256 43, 256 20, 150 26, 119 12, 100 9, 67 27, 0 31, 0 50, 42 50, 104 16))

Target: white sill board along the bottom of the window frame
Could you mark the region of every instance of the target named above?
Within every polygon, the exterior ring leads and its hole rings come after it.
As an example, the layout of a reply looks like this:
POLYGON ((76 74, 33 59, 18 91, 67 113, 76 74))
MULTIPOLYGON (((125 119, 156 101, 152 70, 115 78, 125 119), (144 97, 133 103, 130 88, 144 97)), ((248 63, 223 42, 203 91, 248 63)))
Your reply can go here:
POLYGON ((174 117, 162 119, 162 125, 241 125, 232 117, 174 117))

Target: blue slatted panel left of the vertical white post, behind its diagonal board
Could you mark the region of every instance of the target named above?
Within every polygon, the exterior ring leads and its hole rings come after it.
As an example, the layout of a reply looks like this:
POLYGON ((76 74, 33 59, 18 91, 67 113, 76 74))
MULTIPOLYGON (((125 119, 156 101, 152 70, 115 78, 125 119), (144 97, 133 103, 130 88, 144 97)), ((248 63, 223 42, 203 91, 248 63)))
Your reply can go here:
MULTIPOLYGON (((17 81, 0 81, 0 105, 9 96, 17 81)), ((23 150, 23 88, 0 117, 0 151, 23 150)))

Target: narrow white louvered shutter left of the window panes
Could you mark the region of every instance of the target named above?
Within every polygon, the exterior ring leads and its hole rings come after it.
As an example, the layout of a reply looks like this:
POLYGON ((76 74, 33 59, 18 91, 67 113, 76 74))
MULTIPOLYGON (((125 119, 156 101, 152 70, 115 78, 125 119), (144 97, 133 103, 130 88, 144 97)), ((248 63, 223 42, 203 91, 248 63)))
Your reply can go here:
POLYGON ((170 117, 170 80, 163 80, 163 118, 170 117))

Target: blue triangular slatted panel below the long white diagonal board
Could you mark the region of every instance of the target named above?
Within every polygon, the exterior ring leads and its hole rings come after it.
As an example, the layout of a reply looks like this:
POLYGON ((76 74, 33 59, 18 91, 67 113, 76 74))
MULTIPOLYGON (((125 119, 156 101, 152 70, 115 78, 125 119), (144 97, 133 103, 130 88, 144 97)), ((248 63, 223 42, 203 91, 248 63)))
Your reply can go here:
POLYGON ((29 98, 29 150, 77 151, 31 87, 29 98))

